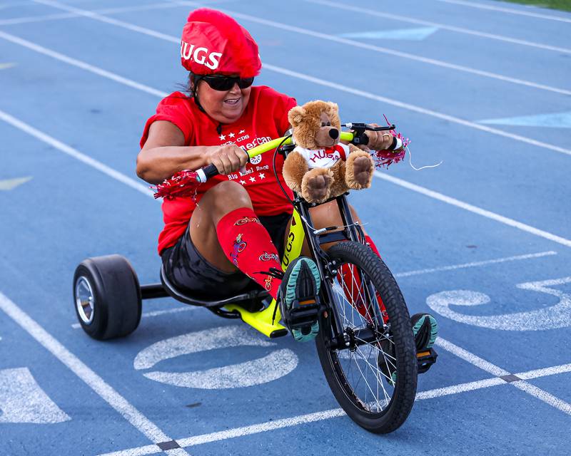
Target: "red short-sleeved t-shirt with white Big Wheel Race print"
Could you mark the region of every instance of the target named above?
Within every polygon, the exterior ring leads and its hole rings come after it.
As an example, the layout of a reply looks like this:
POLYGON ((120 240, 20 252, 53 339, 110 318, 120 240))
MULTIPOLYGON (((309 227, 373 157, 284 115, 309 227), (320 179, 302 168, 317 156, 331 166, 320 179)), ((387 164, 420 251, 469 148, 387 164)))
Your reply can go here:
MULTIPOLYGON (((193 145, 224 145, 235 143, 244 150, 269 140, 280 138, 289 128, 288 111, 297 105, 295 98, 288 97, 266 86, 252 87, 250 100, 242 117, 231 124, 221 125, 218 133, 218 122, 211 119, 198 109, 192 98, 181 92, 171 93, 163 98, 156 108, 156 114, 147 120, 141 147, 148 138, 148 129, 155 120, 168 120, 184 134, 185 144, 193 145)), ((281 191, 273 174, 273 151, 268 151, 253 157, 246 165, 246 173, 218 175, 198 187, 196 200, 200 201, 206 190, 223 180, 233 180, 243 185, 252 200, 253 208, 258 215, 277 215, 293 211, 290 202, 281 191)), ((276 168, 281 184, 288 196, 293 197, 285 185, 281 170, 283 158, 276 157, 276 168)), ((165 226, 158 235, 158 253, 176 244, 184 234, 196 202, 190 198, 165 199, 163 201, 163 221, 165 226)))

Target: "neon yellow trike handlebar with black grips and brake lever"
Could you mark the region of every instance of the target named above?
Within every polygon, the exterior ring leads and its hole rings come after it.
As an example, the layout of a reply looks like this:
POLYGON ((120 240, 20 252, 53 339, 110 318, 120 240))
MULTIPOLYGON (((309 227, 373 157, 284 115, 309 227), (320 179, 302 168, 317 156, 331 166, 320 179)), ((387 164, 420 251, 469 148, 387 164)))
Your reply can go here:
MULTIPOLYGON (((368 145, 369 137, 365 135, 365 131, 389 131, 395 130, 395 125, 388 125, 386 127, 372 127, 366 123, 345 123, 341 125, 343 127, 351 128, 353 132, 342 131, 340 135, 341 140, 349 141, 354 145, 368 145)), ((263 152, 268 152, 268 150, 275 149, 279 145, 292 144, 293 140, 291 137, 283 136, 276 140, 271 140, 264 142, 261 145, 252 147, 250 150, 246 151, 248 154, 248 161, 256 157, 257 155, 263 154, 263 152)), ((393 135, 393 144, 390 145, 388 150, 398 150, 403 147, 403 141, 393 135)), ((211 177, 218 175, 218 170, 215 165, 207 165, 196 170, 198 182, 206 182, 211 177)))

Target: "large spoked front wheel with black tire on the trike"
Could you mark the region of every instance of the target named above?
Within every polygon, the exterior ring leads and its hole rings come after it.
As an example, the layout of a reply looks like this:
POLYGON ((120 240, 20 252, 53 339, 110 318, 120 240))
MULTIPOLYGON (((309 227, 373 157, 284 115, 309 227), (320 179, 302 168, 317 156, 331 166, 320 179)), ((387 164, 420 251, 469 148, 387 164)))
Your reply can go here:
POLYGON ((345 413, 375 433, 393 432, 416 395, 417 361, 408 309, 383 261, 358 242, 340 242, 323 281, 328 311, 316 338, 325 378, 345 413), (332 274, 333 275, 333 274, 332 274))

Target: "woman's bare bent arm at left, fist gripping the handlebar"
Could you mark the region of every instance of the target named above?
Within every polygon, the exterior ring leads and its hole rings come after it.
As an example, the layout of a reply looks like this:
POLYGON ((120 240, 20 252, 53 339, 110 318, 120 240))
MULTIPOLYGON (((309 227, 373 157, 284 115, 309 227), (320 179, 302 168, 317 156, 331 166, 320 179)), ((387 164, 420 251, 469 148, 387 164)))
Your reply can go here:
POLYGON ((181 170, 197 170, 216 165, 228 174, 248 161, 248 155, 236 145, 186 146, 182 131, 166 120, 156 120, 148 130, 148 139, 137 155, 137 175, 149 184, 159 184, 181 170))

